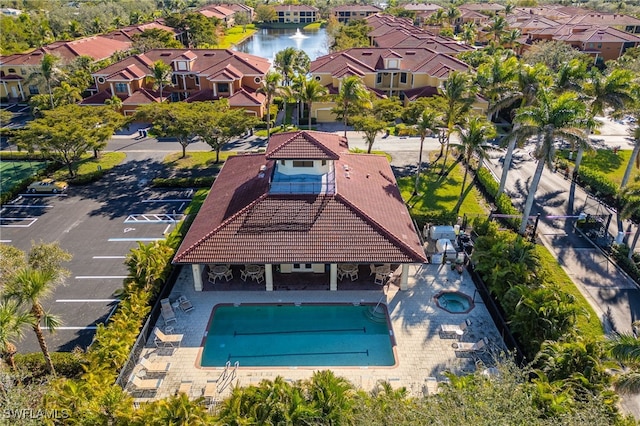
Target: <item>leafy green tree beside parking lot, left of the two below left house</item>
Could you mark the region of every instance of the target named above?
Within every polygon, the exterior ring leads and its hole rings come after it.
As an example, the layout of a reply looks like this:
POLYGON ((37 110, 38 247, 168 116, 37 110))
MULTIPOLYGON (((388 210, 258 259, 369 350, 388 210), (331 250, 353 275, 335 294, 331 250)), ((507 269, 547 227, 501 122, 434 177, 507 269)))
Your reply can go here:
POLYGON ((197 114, 191 104, 143 105, 136 111, 136 118, 152 124, 151 133, 159 137, 176 138, 182 146, 182 158, 187 156, 187 146, 196 137, 197 114))

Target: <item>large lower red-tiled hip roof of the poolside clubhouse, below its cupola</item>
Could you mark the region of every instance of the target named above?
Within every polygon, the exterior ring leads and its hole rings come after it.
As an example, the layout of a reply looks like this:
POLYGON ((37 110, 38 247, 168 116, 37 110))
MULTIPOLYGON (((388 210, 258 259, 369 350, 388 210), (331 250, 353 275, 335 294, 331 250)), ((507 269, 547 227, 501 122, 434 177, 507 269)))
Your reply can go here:
POLYGON ((344 154, 334 164, 335 195, 276 195, 268 193, 273 161, 229 158, 174 262, 424 262, 386 158, 344 154))

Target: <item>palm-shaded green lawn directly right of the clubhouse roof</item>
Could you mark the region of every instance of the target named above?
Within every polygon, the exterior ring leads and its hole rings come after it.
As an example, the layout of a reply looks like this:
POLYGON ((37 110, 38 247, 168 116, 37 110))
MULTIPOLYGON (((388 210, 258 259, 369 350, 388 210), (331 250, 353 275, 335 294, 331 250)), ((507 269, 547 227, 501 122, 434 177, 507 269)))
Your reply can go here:
MULTIPOLYGON (((460 197, 460 187, 464 176, 463 167, 455 161, 453 156, 449 156, 447 161, 448 173, 440 176, 442 160, 433 162, 436 153, 431 153, 431 166, 423 169, 421 173, 418 196, 413 197, 415 176, 401 177, 398 179, 398 186, 402 198, 408 203, 412 214, 441 214, 443 212, 453 213, 460 197)), ((480 192, 474 187, 469 188, 471 176, 467 176, 465 195, 458 215, 467 214, 472 216, 486 215, 489 208, 480 192)))

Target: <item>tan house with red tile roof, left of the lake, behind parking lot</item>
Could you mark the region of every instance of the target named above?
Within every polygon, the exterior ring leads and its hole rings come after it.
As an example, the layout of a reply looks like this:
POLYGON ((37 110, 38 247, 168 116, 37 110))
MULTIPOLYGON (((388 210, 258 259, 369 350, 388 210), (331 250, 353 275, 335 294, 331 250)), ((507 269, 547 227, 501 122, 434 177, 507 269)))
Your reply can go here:
POLYGON ((228 98, 232 108, 262 117, 265 98, 257 89, 270 67, 265 58, 229 49, 154 49, 94 72, 98 93, 82 104, 102 105, 116 95, 123 101, 123 113, 130 115, 139 105, 167 98, 187 102, 228 98), (151 78, 156 61, 171 66, 171 83, 163 87, 162 99, 151 78))

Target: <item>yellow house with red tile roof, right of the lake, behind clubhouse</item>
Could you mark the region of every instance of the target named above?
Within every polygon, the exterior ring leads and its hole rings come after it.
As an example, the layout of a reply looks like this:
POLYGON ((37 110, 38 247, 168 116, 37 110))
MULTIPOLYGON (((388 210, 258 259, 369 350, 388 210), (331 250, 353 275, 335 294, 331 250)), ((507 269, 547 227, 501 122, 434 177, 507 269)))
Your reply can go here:
MULTIPOLYGON (((419 48, 354 48, 330 53, 311 62, 310 74, 326 86, 329 93, 338 93, 342 80, 358 76, 378 96, 397 96, 405 105, 419 97, 433 96, 453 71, 470 67, 451 55, 419 48)), ((312 117, 318 122, 335 121, 331 112, 334 102, 316 102, 312 117)), ((488 103, 478 97, 474 108, 485 113, 488 103)))

